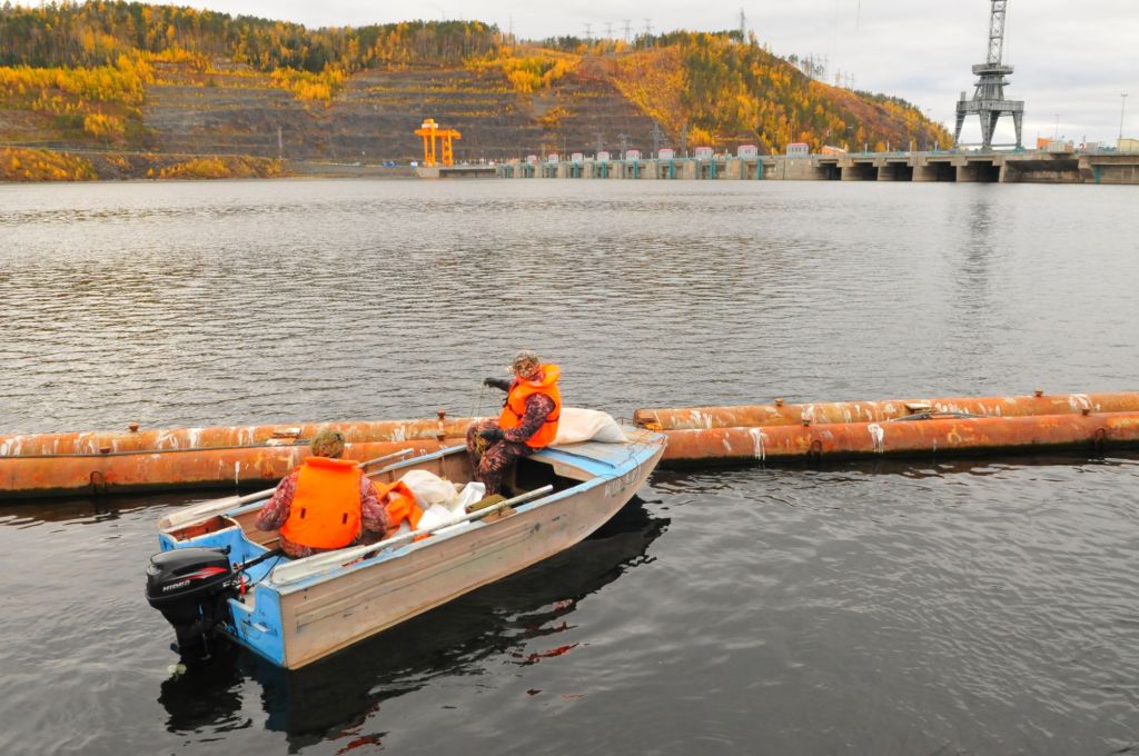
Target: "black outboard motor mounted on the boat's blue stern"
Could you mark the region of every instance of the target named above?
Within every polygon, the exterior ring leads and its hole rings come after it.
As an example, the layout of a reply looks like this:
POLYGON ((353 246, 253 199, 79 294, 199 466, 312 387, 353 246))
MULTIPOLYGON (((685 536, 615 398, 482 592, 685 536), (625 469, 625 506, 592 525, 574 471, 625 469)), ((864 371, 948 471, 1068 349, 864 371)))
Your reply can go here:
POLYGON ((178 638, 186 660, 210 658, 218 625, 229 618, 238 577, 229 564, 229 549, 191 547, 150 557, 146 569, 146 598, 162 613, 178 638))

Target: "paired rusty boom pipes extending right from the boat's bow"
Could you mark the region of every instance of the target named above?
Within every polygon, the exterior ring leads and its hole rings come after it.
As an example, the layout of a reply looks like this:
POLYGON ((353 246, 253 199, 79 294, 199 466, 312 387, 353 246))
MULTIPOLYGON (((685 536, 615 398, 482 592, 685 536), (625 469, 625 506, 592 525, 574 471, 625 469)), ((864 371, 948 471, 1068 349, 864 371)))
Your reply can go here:
POLYGON ((1139 393, 637 410, 662 463, 981 455, 1139 445, 1139 393))

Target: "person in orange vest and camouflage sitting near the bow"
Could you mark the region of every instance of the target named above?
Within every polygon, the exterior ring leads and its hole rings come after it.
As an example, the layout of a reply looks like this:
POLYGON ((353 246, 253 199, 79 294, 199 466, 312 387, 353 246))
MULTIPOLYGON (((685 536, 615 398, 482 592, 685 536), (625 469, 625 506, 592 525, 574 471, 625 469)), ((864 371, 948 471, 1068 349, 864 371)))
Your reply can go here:
POLYGON ((549 446, 558 433, 562 369, 543 364, 523 350, 510 368, 514 378, 486 378, 483 384, 507 392, 498 420, 481 420, 467 428, 467 455, 486 495, 500 493, 507 468, 519 457, 549 446))

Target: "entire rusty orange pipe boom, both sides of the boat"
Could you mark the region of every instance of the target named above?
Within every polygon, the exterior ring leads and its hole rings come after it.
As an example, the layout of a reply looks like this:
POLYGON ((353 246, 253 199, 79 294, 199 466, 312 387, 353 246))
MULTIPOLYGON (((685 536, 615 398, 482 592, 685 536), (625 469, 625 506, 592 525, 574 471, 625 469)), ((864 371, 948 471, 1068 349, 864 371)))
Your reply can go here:
MULTIPOLYGON (((0 501, 274 484, 322 428, 345 458, 462 443, 477 418, 0 435, 0 501)), ((637 410, 669 438, 662 463, 700 466, 1139 446, 1139 392, 637 410)))

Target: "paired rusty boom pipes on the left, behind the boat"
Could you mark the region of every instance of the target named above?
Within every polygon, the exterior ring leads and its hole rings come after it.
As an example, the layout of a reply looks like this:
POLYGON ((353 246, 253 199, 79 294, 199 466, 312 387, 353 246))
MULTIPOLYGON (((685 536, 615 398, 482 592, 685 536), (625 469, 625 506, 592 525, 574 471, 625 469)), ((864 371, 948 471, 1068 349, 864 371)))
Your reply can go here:
POLYGON ((344 434, 345 459, 416 454, 462 443, 472 418, 222 426, 0 436, 0 501, 41 496, 241 488, 276 484, 322 428, 344 434))

